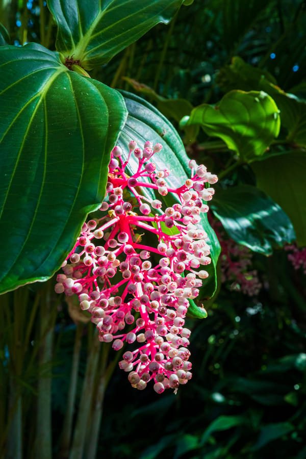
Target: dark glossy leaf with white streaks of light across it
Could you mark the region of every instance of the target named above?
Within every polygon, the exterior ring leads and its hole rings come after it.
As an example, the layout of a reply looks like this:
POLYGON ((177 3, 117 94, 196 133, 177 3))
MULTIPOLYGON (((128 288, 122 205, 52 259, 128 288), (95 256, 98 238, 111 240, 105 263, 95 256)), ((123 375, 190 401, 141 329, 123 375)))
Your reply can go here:
POLYGON ((295 240, 285 212, 256 187, 240 185, 218 191, 211 208, 228 236, 254 252, 269 255, 295 240))

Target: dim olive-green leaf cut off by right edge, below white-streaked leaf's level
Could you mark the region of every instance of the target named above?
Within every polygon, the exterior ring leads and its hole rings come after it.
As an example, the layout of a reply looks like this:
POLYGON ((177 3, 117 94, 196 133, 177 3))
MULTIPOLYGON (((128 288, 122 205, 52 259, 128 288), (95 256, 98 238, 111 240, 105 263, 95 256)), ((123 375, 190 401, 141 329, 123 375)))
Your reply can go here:
POLYGON ((257 186, 286 212, 293 223, 296 241, 306 245, 306 155, 291 152, 253 163, 257 186))

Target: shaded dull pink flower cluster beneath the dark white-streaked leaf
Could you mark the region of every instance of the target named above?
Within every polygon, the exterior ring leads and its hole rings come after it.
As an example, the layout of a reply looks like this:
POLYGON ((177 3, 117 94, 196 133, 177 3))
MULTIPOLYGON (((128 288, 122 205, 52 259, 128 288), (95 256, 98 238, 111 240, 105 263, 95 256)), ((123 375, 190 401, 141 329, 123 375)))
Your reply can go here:
POLYGON ((230 282, 230 290, 257 296, 262 288, 257 270, 249 270, 251 251, 233 239, 219 238, 221 245, 221 281, 230 282))

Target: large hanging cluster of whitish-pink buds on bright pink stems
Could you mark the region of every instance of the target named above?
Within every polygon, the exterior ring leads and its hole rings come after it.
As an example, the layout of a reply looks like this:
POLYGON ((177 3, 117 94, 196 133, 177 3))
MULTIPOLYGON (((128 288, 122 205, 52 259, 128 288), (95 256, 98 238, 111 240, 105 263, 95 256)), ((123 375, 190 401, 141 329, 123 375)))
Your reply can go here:
POLYGON ((112 150, 101 216, 83 224, 55 287, 79 296, 100 341, 112 342, 115 350, 132 345, 119 367, 137 389, 154 380, 157 393, 177 390, 191 378, 185 316, 188 300, 208 276, 201 266, 211 262, 207 234, 197 224, 208 211, 203 201, 214 194, 210 184, 217 182, 205 166, 190 161, 191 179, 169 187, 169 170, 157 170, 151 161, 161 149, 131 141, 125 161, 120 147, 112 150), (138 168, 129 176, 132 155, 138 168), (163 211, 156 196, 168 192, 176 202, 163 211))

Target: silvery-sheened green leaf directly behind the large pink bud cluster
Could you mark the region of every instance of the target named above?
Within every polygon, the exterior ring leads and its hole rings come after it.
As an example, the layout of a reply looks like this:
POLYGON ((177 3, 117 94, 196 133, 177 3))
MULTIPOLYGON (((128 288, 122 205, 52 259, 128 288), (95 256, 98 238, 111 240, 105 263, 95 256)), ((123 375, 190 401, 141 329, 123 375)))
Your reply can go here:
MULTIPOLYGON (((179 188, 185 183, 190 174, 188 157, 182 140, 172 124, 152 105, 140 97, 123 92, 126 108, 129 111, 126 124, 119 137, 119 145, 126 152, 131 139, 139 146, 143 146, 146 140, 163 145, 160 153, 154 155, 154 162, 158 169, 167 167, 171 174, 167 177, 167 183, 172 188, 179 188)), ((129 162, 131 173, 137 170, 138 162, 132 157, 129 162)), ((161 197, 159 196, 159 199, 161 197)), ((169 195, 164 197, 167 202, 169 195)), ((209 236, 212 263, 206 266, 209 277, 203 281, 205 297, 211 297, 217 286, 216 264, 220 253, 220 245, 215 232, 208 223, 207 215, 201 214, 201 226, 209 236)))

